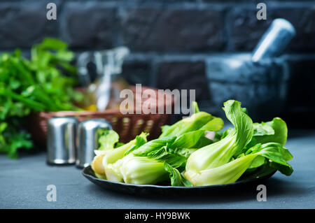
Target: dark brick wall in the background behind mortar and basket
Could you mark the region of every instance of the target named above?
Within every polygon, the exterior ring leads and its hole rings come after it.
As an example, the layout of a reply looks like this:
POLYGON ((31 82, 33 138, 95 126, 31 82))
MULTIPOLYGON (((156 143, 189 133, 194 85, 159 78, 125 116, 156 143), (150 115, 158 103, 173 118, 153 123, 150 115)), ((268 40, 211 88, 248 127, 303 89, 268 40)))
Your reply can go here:
POLYGON ((255 18, 258 2, 0 1, 0 50, 27 50, 45 36, 64 39, 76 52, 127 45, 132 55, 123 75, 129 82, 196 89, 197 100, 207 105, 211 101, 206 78, 209 55, 253 50, 272 20, 283 17, 297 29, 285 55, 293 73, 283 117, 311 117, 315 112, 315 2, 263 1, 267 20, 260 21, 255 18), (56 21, 45 19, 48 2, 57 3, 56 21))

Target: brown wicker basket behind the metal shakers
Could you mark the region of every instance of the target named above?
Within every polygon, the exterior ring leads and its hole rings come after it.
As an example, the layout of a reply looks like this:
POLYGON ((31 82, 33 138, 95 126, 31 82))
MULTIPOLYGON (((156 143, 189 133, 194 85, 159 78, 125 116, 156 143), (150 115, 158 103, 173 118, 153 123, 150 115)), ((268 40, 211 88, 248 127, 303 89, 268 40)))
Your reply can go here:
POLYGON ((34 141, 36 143, 45 144, 46 142, 46 132, 47 132, 47 121, 51 117, 66 117, 73 116, 78 119, 79 122, 82 122, 91 118, 104 118, 111 122, 113 129, 117 131, 120 136, 120 141, 127 143, 132 140, 134 137, 139 135, 141 131, 149 133, 148 139, 157 138, 161 133, 161 127, 169 122, 170 114, 158 114, 158 105, 172 106, 174 108, 174 98, 170 94, 161 94, 157 89, 149 87, 141 87, 141 94, 136 94, 136 88, 130 87, 132 92, 134 92, 135 108, 142 108, 139 105, 137 106, 137 101, 141 101, 141 106, 146 103, 149 104, 149 108, 155 107, 157 114, 144 114, 141 110, 141 114, 137 114, 134 110, 134 114, 123 115, 120 113, 119 109, 111 109, 104 111, 59 111, 59 112, 41 112, 41 113, 31 113, 29 115, 29 123, 27 129, 31 133, 34 141), (156 98, 144 99, 142 97, 142 92, 144 90, 150 89, 155 92, 156 98), (141 100, 136 100, 139 96, 141 100), (149 101, 148 101, 149 100, 149 101), (162 101, 161 101, 162 100, 162 101), (160 101, 160 103, 159 103, 160 101))

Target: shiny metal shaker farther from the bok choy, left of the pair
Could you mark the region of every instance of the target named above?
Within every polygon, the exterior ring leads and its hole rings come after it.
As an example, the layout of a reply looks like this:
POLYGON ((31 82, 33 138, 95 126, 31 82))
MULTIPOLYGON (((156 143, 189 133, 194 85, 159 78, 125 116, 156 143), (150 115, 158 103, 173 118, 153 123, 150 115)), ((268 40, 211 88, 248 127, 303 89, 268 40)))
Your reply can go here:
POLYGON ((74 164, 76 162, 75 117, 52 117, 47 129, 47 163, 74 164))

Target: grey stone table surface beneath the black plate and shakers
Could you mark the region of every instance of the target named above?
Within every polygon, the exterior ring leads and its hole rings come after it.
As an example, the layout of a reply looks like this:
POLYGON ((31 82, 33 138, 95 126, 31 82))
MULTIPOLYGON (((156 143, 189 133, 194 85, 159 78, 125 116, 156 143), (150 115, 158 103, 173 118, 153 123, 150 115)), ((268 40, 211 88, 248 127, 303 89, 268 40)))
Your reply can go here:
POLYGON ((75 166, 48 166, 45 152, 11 160, 0 155, 0 208, 315 208, 315 131, 290 131, 294 158, 290 177, 276 173, 265 182, 267 201, 253 188, 211 196, 132 196, 107 191, 85 179, 75 166), (46 199, 48 185, 57 201, 46 199))

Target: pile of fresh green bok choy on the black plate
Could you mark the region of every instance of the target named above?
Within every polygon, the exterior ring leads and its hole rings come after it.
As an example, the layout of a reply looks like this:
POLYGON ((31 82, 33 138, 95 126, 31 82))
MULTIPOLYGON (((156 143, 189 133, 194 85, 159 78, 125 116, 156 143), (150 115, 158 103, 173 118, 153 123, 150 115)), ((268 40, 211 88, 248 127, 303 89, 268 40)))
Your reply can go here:
POLYGON ((281 118, 253 123, 239 101, 229 100, 223 110, 234 127, 218 132, 223 128, 221 118, 200 111, 195 102, 193 110, 190 117, 162 127, 160 137, 152 141, 142 133, 118 146, 118 135, 105 131, 91 164, 95 175, 139 185, 192 187, 257 178, 277 170, 293 173, 288 164, 293 156, 284 148, 288 129, 281 118))

